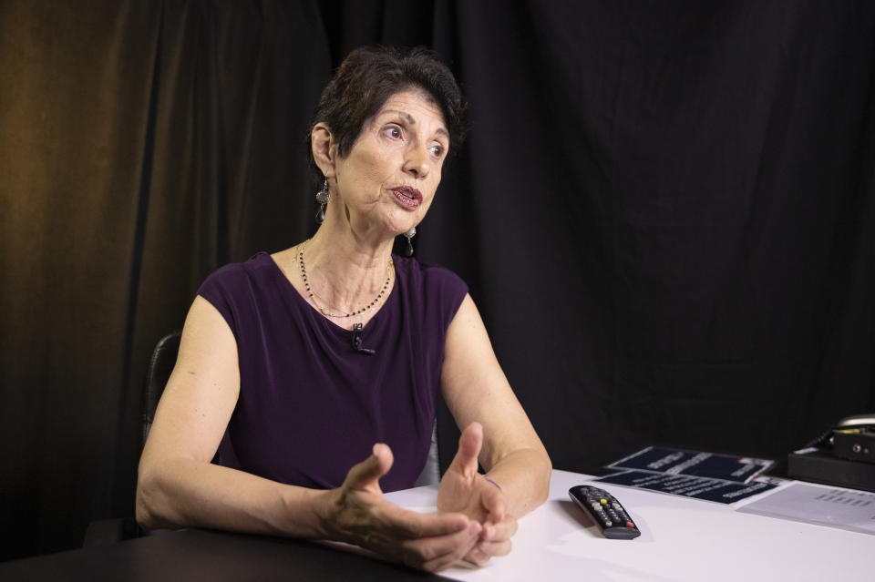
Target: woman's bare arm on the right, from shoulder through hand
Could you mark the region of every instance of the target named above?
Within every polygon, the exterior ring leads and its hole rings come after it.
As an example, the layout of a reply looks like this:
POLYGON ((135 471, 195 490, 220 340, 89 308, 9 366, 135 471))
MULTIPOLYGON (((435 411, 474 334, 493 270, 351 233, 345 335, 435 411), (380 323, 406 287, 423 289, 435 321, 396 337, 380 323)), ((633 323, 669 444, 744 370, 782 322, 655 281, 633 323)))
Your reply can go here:
POLYGON ((470 296, 448 329, 441 387, 465 430, 441 481, 438 508, 463 511, 485 524, 488 543, 468 556, 482 562, 509 552, 516 518, 547 498, 551 462, 499 366, 470 296), (485 476, 477 474, 478 461, 485 476))

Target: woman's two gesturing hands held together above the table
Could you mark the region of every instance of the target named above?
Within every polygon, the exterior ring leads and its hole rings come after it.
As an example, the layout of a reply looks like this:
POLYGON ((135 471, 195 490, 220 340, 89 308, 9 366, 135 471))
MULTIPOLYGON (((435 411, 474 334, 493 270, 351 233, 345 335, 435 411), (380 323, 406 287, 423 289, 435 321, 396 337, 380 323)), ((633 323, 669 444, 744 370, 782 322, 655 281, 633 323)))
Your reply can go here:
POLYGON ((506 511, 499 485, 479 475, 483 428, 462 432, 458 452, 438 487, 438 513, 419 514, 386 500, 378 483, 392 467, 392 451, 375 444, 331 496, 324 523, 329 536, 410 567, 436 572, 459 559, 483 564, 510 552, 517 520, 506 511))

